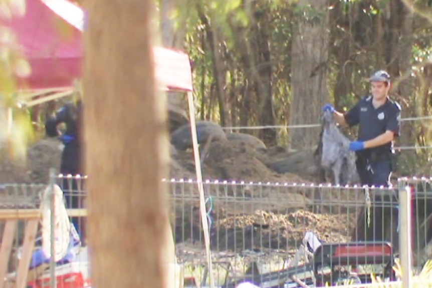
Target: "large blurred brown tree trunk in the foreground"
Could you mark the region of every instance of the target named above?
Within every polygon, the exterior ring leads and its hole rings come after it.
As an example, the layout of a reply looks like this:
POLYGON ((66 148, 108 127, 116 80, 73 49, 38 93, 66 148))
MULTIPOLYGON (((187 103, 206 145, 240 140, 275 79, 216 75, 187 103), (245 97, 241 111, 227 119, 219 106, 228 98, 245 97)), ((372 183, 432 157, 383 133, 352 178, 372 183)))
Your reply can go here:
POLYGON ((92 0, 84 141, 95 287, 166 287, 168 142, 156 97, 150 0, 92 0))

